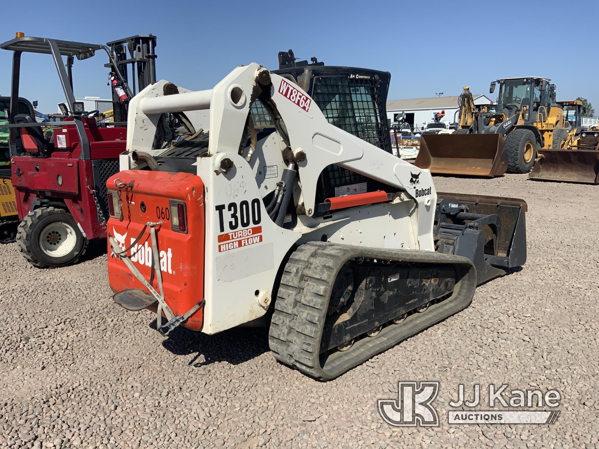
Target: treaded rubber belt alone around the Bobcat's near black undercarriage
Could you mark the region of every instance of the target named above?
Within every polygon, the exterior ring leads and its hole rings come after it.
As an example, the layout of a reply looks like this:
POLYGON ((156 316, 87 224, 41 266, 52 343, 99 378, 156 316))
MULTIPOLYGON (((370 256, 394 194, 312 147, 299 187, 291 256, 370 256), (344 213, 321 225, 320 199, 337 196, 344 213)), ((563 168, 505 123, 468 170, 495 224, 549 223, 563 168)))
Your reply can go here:
POLYGON ((289 258, 280 281, 268 343, 274 357, 320 380, 337 377, 403 339, 468 307, 476 289, 476 270, 466 257, 419 250, 379 248, 310 242, 289 258), (403 324, 386 326, 378 336, 362 338, 350 350, 334 352, 320 360, 320 339, 332 285, 341 266, 352 257, 397 262, 443 263, 456 266, 461 280, 451 298, 434 304, 425 313, 410 315, 403 324))

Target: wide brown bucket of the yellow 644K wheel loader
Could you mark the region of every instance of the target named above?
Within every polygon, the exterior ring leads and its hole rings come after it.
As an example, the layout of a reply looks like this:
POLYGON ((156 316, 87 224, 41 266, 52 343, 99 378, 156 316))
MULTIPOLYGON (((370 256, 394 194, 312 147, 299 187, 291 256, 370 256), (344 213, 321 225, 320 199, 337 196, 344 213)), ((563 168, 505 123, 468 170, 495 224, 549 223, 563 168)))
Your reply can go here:
POLYGON ((505 142, 500 134, 424 134, 414 165, 432 173, 501 176, 507 171, 505 142))

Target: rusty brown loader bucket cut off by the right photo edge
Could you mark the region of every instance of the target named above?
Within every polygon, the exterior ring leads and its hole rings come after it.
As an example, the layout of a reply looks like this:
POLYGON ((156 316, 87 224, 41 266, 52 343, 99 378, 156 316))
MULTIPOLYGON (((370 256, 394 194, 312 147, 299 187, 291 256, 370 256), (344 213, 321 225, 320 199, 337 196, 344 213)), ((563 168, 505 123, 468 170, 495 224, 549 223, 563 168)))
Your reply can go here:
POLYGON ((599 184, 599 151, 540 150, 528 177, 540 181, 599 184))

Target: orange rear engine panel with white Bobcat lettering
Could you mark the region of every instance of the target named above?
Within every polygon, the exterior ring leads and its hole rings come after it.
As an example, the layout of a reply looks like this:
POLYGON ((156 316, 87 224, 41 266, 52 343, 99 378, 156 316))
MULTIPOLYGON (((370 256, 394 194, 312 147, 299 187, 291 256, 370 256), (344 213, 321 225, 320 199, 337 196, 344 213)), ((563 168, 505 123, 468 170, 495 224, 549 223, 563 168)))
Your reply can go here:
MULTIPOLYGON (((118 217, 108 220, 108 234, 122 249, 129 247, 147 222, 160 222, 156 226, 160 269, 164 298, 175 315, 190 310, 204 297, 204 184, 200 177, 189 173, 126 170, 107 181, 108 193, 118 195, 115 180, 133 187, 120 189, 122 221, 118 217), (173 230, 170 200, 183 201, 186 206, 187 233, 173 230)), ((178 228, 176 228, 178 229, 178 228)), ((114 293, 126 289, 149 291, 117 257, 108 242, 108 280, 114 293)), ((127 252, 134 265, 146 280, 150 280, 152 266, 152 241, 150 228, 131 250, 127 252)), ((158 282, 153 281, 158 291, 158 282)), ((156 311, 156 308, 153 308, 156 311)), ((204 307, 201 307, 183 326, 201 330, 204 307)))

